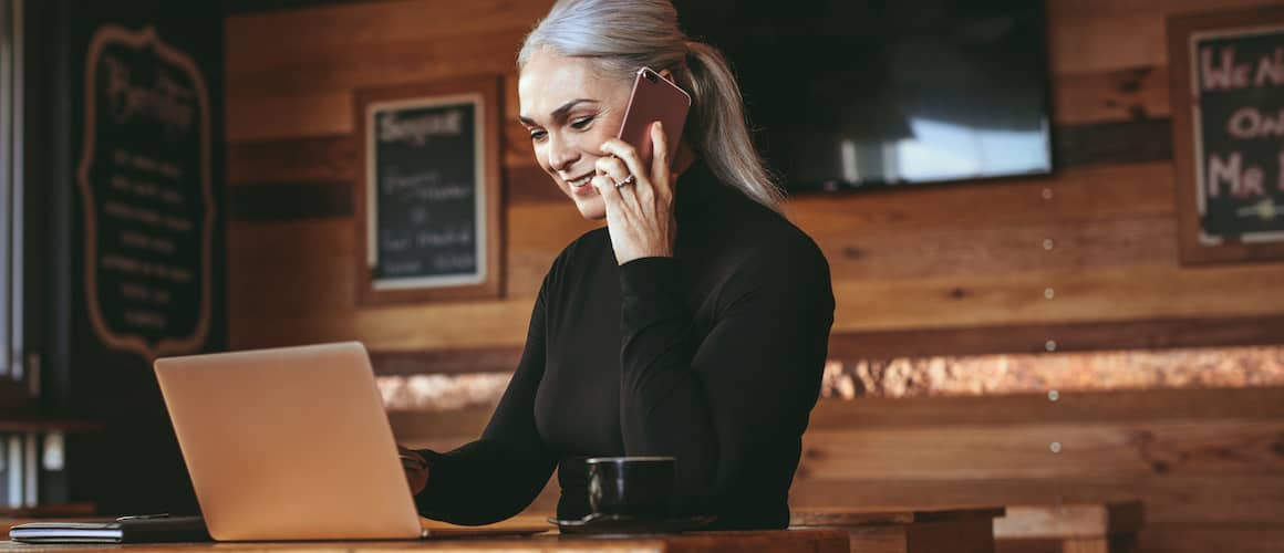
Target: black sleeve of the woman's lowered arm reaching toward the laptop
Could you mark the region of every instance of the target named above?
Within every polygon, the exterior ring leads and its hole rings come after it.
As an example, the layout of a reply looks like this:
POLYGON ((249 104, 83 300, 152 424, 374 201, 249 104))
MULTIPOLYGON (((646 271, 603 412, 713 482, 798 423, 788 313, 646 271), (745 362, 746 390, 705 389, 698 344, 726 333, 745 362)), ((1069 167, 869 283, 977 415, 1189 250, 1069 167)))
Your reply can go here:
POLYGON ((526 508, 556 464, 535 429, 535 390, 544 373, 544 293, 530 316, 521 362, 482 438, 448 453, 420 452, 429 479, 415 497, 420 515, 484 525, 526 508))

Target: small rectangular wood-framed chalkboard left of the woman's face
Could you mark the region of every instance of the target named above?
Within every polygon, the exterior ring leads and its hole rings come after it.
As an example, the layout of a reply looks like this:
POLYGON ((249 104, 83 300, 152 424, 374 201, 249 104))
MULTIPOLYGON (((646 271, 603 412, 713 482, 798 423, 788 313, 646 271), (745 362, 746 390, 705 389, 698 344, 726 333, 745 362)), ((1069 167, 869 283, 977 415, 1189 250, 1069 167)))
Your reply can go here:
POLYGON ((358 91, 363 300, 498 295, 497 98, 490 78, 358 91))

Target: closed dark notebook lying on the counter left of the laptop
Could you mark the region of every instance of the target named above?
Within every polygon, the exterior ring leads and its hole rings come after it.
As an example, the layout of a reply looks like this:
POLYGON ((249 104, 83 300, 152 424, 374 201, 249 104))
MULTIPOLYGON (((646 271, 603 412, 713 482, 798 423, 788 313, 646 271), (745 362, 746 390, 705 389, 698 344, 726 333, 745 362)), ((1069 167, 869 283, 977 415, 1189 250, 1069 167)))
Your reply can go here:
POLYGON ((199 516, 146 516, 100 522, 27 522, 9 529, 9 539, 30 544, 209 541, 209 532, 199 516))

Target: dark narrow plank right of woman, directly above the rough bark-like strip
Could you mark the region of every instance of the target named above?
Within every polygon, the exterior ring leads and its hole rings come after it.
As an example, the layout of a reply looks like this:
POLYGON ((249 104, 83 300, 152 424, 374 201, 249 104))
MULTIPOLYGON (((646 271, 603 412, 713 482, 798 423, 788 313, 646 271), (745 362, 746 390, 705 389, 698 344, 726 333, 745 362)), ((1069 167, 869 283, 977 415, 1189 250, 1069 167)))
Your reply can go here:
POLYGON ((829 357, 846 362, 895 357, 1095 352, 1284 344, 1284 316, 1167 318, 967 328, 838 331, 829 357))

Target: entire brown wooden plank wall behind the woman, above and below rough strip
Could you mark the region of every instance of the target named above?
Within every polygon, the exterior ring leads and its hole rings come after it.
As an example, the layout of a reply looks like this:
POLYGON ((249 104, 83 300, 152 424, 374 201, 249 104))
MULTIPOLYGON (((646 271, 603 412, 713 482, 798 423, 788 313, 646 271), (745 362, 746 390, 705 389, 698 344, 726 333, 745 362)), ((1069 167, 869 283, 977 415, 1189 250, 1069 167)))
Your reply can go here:
MULTIPOLYGON (((1284 264, 1177 262, 1165 46, 1168 14, 1270 3, 1048 0, 1055 176, 796 200, 794 219, 833 269, 831 353, 1284 343, 1284 264)), ((360 339, 397 372, 511 370, 544 269, 593 225, 508 122, 506 298, 358 307, 351 105, 363 86, 490 73, 506 76, 511 121, 514 53, 547 5, 386 0, 229 18, 234 348, 360 339)), ((1145 550, 1284 543, 1284 390, 1062 396, 823 403, 795 504, 1141 498, 1145 550)), ((449 447, 488 414, 394 413, 394 425, 449 447)))

